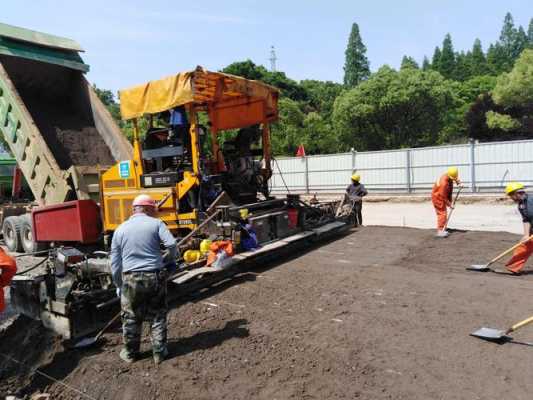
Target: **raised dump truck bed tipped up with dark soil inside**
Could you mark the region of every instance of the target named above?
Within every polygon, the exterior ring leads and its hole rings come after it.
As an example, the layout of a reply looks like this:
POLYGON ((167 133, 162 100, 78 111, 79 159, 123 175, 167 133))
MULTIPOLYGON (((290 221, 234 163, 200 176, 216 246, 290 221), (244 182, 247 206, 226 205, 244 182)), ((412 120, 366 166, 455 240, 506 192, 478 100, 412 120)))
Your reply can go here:
POLYGON ((9 32, 0 24, 0 133, 35 199, 98 199, 99 172, 130 159, 130 143, 72 61, 77 48, 9 32))

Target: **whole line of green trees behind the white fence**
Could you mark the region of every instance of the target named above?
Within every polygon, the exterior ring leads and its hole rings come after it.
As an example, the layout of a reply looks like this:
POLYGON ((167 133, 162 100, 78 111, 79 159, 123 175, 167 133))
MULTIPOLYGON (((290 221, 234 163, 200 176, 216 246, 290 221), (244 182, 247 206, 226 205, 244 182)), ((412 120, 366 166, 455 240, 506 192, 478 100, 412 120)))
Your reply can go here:
MULTIPOLYGON (((419 65, 405 55, 399 70, 383 65, 371 73, 366 51, 354 23, 342 84, 297 82, 251 60, 222 72, 280 89, 280 118, 272 127, 277 155, 294 155, 301 144, 308 154, 323 154, 533 138, 533 18, 524 29, 508 13, 486 51, 479 39, 456 51, 447 34, 431 60, 419 65)), ((109 91, 98 92, 118 117, 109 91)))

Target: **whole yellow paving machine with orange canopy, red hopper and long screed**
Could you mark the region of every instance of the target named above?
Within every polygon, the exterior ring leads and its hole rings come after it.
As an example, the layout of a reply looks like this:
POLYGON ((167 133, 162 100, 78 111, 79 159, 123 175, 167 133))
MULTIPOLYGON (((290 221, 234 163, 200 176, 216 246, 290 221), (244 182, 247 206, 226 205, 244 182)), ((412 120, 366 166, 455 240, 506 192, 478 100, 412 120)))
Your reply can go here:
POLYGON ((43 274, 13 281, 15 311, 66 339, 105 326, 119 303, 109 239, 141 193, 158 202, 156 216, 180 239, 183 258, 168 281, 170 298, 345 232, 348 218, 334 204, 271 197, 269 125, 278 117, 277 101, 271 86, 201 67, 121 91, 132 151, 101 168, 99 202, 78 196, 32 210, 35 239, 51 249, 43 274), (249 229, 253 248, 241 240, 249 229), (205 253, 193 262, 185 257, 186 250, 201 253, 209 238, 235 249, 223 267, 207 266, 205 253))

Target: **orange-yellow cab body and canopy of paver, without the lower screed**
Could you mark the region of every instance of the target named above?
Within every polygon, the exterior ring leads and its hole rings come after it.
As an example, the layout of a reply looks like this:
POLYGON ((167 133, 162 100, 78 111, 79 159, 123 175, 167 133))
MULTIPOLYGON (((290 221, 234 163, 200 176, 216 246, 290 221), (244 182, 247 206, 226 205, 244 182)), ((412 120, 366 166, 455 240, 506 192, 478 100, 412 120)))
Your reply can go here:
POLYGON ((104 229, 111 232, 128 218, 140 193, 158 202, 158 217, 174 233, 194 229, 222 191, 235 204, 257 201, 258 192, 268 197, 269 124, 278 117, 278 94, 264 83, 202 67, 120 91, 134 151, 102 176, 104 229), (238 133, 221 146, 220 133, 228 130, 238 133))

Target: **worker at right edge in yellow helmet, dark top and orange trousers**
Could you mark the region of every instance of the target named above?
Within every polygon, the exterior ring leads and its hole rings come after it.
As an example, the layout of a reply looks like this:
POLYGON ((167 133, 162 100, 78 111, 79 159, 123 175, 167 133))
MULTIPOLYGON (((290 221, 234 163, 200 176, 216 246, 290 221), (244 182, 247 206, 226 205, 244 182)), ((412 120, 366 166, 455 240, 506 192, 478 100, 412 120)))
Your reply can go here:
POLYGON ((510 272, 515 275, 520 275, 527 260, 533 254, 533 242, 530 240, 533 234, 533 196, 529 197, 527 195, 524 184, 520 182, 509 183, 505 188, 505 194, 518 204, 518 211, 524 223, 522 244, 516 248, 513 256, 506 264, 510 272))

